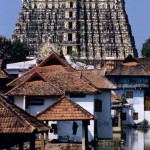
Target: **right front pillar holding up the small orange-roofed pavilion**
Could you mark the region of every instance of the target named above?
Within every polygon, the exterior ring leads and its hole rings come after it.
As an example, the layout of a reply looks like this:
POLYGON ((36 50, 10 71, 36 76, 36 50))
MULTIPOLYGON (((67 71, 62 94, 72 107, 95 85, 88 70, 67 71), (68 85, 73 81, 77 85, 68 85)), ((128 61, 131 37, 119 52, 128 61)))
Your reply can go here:
POLYGON ((82 121, 82 150, 88 147, 88 122, 82 121))

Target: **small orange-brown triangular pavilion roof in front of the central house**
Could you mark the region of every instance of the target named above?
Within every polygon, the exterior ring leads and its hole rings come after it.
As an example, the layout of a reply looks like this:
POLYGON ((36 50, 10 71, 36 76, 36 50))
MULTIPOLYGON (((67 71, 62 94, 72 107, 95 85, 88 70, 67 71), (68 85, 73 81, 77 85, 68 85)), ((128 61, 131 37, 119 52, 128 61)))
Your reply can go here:
POLYGON ((92 120, 95 117, 66 96, 37 115, 39 120, 92 120))

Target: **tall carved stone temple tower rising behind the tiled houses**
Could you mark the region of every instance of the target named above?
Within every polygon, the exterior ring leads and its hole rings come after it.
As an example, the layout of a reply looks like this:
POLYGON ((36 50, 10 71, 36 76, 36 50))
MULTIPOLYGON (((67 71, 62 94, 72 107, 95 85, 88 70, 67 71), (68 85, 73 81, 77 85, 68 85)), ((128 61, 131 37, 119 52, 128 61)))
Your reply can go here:
POLYGON ((79 59, 138 55, 124 0, 23 0, 15 38, 37 49, 54 44, 79 59))

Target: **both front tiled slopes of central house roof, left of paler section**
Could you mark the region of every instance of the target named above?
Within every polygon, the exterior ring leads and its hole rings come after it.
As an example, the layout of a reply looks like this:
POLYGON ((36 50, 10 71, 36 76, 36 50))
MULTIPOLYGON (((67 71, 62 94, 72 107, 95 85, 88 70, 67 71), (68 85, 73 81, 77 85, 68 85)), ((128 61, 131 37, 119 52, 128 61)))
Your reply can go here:
MULTIPOLYGON (((27 79, 8 91, 6 95, 52 96, 63 95, 65 92, 97 92, 96 88, 80 78, 79 72, 51 72, 50 74, 44 73, 41 75, 43 76, 41 80, 40 78, 37 78, 37 80, 27 79)), ((29 77, 29 79, 32 79, 32 77, 29 77)))

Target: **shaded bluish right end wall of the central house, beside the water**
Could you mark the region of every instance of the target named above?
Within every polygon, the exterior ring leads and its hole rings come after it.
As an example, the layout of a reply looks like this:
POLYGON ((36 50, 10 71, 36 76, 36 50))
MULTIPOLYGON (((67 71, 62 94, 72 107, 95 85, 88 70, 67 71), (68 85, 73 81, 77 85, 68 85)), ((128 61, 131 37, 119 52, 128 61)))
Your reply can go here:
POLYGON ((95 99, 102 100, 102 112, 95 112, 97 117, 97 137, 100 139, 111 139, 111 92, 103 91, 100 95, 96 95, 95 99))

